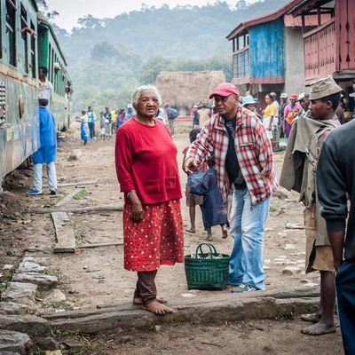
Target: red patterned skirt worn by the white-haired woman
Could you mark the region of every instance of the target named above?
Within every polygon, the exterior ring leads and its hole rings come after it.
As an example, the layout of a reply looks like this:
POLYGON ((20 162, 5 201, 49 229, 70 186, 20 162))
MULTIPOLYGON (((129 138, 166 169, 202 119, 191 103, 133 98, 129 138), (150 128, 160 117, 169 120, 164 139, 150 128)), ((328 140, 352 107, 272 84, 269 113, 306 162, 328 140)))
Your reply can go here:
POLYGON ((184 263, 184 233, 179 200, 144 206, 145 215, 135 222, 130 203, 123 208, 124 268, 151 272, 160 265, 184 263))

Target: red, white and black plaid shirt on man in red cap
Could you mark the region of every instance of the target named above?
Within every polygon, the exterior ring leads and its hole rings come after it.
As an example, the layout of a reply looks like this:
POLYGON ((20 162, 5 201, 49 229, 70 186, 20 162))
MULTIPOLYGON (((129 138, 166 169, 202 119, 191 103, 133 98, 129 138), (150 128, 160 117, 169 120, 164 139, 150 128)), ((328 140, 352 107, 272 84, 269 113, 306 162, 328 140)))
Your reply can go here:
MULTIPOLYGON (((242 106, 238 107, 236 123, 235 151, 251 203, 256 205, 270 197, 277 188, 272 164, 272 144, 256 114, 242 106)), ((231 188, 225 170, 228 142, 225 120, 216 114, 205 122, 201 133, 186 153, 186 159, 193 158, 198 164, 204 162, 208 154, 215 156, 218 187, 225 199, 231 188)))

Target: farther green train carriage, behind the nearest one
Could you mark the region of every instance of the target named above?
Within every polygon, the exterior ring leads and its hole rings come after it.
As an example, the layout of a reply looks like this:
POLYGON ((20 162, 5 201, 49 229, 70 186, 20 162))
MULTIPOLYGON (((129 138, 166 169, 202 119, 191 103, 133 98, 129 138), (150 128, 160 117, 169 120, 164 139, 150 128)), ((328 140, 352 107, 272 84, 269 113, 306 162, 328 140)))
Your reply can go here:
POLYGON ((59 47, 51 24, 38 13, 38 65, 48 68, 47 79, 53 85, 51 111, 58 130, 70 124, 71 82, 67 74, 67 61, 59 47))

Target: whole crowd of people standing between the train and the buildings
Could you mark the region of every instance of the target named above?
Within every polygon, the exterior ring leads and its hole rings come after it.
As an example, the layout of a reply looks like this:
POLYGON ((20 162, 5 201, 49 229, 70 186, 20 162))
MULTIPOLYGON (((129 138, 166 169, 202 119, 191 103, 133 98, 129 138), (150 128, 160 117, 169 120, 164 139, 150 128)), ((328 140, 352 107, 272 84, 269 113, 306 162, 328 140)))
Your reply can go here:
MULTIPOLYGON (((44 68, 45 69, 45 68, 44 68)), ((41 146, 34 155, 35 177, 29 194, 42 193, 42 164, 47 164, 51 193, 56 193, 55 123, 49 104, 51 85, 40 72, 41 146)), ((355 120, 345 125, 339 106, 341 88, 331 76, 312 83, 310 94, 240 98, 232 83, 221 83, 210 94, 215 106, 193 107, 190 145, 184 149, 187 174, 188 233, 195 233, 195 209, 201 206, 207 239, 221 226, 222 237, 233 237, 228 284, 233 293, 256 292, 264 284, 264 226, 270 201, 279 185, 273 164, 278 138, 288 138, 280 185, 300 194, 304 203, 305 271, 319 271, 320 307, 302 319, 312 322, 307 335, 336 331, 337 295, 343 346, 355 353, 355 120), (350 200, 350 209, 349 209, 350 200), (232 201, 232 203, 231 203, 232 201), (229 202, 229 203, 228 203, 229 202), (229 205, 229 206, 228 206, 229 205), (230 213, 228 213, 230 211, 230 213), (346 238, 345 238, 346 234, 346 238), (336 292, 335 292, 336 290, 336 292)), ((134 91, 132 104, 99 114, 99 134, 115 139, 115 169, 124 193, 124 268, 137 272, 133 303, 154 314, 172 312, 157 296, 156 274, 162 264, 184 262, 182 191, 177 146, 172 139, 177 112, 154 86, 134 91), (171 122, 170 122, 171 121, 171 122)), ((84 144, 96 136, 96 114, 83 111, 84 144)))

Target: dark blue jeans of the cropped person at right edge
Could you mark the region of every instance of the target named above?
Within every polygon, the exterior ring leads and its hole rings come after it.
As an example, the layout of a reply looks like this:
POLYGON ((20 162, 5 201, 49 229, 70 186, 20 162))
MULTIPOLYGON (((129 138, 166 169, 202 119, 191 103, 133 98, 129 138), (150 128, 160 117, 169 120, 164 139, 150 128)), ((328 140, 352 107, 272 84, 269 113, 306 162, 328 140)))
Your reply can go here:
POLYGON ((355 354, 355 262, 344 261, 335 278, 345 355, 355 354))

